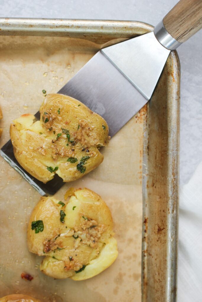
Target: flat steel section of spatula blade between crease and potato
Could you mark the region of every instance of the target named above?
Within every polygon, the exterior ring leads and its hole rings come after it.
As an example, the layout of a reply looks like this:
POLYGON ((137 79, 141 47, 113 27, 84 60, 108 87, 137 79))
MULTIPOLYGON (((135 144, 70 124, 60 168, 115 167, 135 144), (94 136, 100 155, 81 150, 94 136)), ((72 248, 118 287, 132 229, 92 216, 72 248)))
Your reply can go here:
POLYGON ((147 102, 100 51, 58 93, 78 99, 104 117, 111 137, 147 102))

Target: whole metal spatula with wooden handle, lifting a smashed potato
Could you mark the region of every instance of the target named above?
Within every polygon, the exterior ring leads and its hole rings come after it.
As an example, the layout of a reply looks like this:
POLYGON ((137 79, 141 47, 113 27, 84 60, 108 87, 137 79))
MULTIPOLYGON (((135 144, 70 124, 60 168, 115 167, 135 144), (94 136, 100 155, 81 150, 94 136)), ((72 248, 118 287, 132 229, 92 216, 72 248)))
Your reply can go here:
MULTIPOLYGON (((180 0, 154 32, 100 50, 58 93, 87 105, 107 121, 113 136, 151 98, 171 50, 202 27, 202 0, 180 0)), ((9 141, 1 155, 41 195, 55 194, 62 179, 43 184, 16 161, 9 141)))

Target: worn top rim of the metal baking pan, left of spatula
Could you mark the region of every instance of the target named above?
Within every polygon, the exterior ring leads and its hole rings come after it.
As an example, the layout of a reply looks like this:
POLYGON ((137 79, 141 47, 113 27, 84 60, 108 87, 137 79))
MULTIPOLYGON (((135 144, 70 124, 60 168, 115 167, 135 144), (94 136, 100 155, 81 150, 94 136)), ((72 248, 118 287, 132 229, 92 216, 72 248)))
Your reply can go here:
POLYGON ((151 28, 151 25, 137 21, 0 18, 0 35, 71 38, 79 35, 80 39, 98 44, 116 38, 132 38, 151 28))

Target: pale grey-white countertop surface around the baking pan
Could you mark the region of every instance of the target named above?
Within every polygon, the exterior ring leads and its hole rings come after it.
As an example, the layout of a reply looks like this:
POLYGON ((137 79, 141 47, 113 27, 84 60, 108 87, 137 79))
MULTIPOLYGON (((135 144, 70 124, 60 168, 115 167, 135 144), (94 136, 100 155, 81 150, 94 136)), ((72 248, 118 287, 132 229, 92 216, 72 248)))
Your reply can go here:
MULTIPOLYGON (((1 17, 136 20, 155 25, 177 0, 1 0, 1 17)), ((202 31, 178 48, 181 63, 180 183, 202 161, 202 31)))

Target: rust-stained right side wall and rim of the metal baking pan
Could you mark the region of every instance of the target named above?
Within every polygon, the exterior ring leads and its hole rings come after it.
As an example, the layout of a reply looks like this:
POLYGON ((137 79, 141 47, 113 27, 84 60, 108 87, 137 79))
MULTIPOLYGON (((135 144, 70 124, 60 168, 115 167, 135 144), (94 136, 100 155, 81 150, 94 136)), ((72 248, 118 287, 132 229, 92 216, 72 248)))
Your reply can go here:
POLYGON ((142 302, 177 301, 180 63, 171 52, 147 103, 143 151, 142 302), (167 87, 165 89, 165 87, 167 87))

